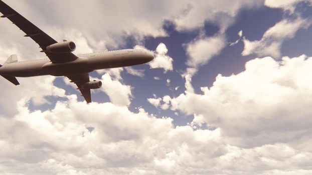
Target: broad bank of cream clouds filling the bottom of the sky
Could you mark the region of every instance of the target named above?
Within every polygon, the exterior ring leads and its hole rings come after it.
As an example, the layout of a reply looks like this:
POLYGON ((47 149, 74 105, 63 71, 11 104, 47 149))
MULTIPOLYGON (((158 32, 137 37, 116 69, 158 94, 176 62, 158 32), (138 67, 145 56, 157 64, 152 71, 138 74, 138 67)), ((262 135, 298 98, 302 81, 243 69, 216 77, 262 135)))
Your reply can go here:
POLYGON ((86 104, 76 95, 46 111, 30 111, 25 103, 19 101, 17 115, 0 117, 4 174, 310 172, 309 151, 286 143, 234 146, 220 128, 175 127, 171 118, 142 108, 133 113, 109 102, 86 104))

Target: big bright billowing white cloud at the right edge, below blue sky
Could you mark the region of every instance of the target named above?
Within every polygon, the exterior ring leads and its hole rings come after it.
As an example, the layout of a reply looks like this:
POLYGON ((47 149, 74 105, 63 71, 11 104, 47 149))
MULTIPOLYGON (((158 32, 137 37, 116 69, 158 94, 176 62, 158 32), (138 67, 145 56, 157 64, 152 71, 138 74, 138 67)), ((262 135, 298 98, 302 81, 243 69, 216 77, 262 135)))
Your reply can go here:
POLYGON ((292 142, 310 132, 311 66, 305 55, 256 58, 238 74, 219 74, 213 86, 201 87, 203 94, 189 90, 172 98, 170 108, 203 117, 232 145, 292 142))

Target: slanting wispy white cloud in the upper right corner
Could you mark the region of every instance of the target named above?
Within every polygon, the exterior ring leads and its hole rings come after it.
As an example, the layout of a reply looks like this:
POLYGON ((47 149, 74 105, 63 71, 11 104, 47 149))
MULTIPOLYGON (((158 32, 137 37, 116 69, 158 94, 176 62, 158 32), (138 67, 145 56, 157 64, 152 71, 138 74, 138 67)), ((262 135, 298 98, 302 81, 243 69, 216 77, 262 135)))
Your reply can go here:
POLYGON ((271 8, 282 8, 287 15, 274 26, 265 31, 260 40, 250 41, 243 37, 244 50, 242 55, 255 53, 257 56, 281 56, 280 48, 283 41, 292 39, 299 29, 306 29, 311 25, 311 18, 302 18, 300 11, 296 11, 299 2, 311 4, 311 0, 265 0, 264 4, 271 8))

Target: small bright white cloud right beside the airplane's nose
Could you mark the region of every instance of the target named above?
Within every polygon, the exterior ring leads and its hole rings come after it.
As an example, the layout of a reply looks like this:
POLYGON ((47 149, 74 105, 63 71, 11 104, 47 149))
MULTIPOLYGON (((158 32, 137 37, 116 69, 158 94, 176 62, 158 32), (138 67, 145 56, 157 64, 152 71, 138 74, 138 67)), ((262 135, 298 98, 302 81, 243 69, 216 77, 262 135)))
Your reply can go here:
MULTIPOLYGON (((134 48, 148 50, 142 45, 135 45, 134 48)), ((148 50, 148 51, 151 51, 151 50, 148 50)), ((174 60, 172 57, 168 55, 168 49, 164 43, 161 42, 157 46, 156 50, 154 51, 154 54, 155 54, 155 58, 148 63, 150 68, 163 68, 164 73, 166 73, 167 71, 173 70, 174 60)))

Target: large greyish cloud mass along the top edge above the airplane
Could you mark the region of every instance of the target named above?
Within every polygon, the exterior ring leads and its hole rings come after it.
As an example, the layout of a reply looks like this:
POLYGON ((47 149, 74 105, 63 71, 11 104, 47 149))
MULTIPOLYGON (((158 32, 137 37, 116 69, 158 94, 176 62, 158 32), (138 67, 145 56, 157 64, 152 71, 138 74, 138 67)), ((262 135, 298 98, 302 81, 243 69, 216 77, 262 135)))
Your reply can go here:
MULTIPOLYGON (((108 3, 101 0, 93 0, 92 2, 77 2, 75 0, 43 2, 36 0, 20 3, 6 0, 6 3, 31 19, 44 31, 50 31, 49 28, 55 26, 79 28, 88 38, 88 43, 95 51, 107 47, 124 46, 125 40, 129 37, 134 38, 137 43, 141 43, 145 36, 166 36, 167 33, 163 29, 165 19, 173 21, 178 30, 195 29, 203 26, 205 21, 226 28, 241 8, 253 8, 262 5, 259 0, 212 0, 209 3, 206 0, 199 0, 196 3, 189 0, 159 1, 157 3, 136 0, 121 4, 117 1, 108 3), (72 4, 76 5, 73 6, 72 4), (49 6, 48 11, 43 10, 46 6, 49 6), (70 10, 68 10, 69 8, 70 10), (81 13, 81 11, 88 11, 88 15, 81 13), (49 24, 46 23, 47 20, 49 24)), ((8 22, 9 24, 11 25, 10 22, 8 22)), ((15 36, 14 38, 18 37, 15 36)), ((61 40, 63 38, 55 39, 61 40)))

